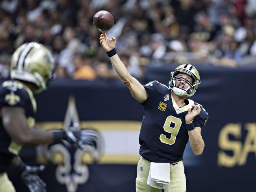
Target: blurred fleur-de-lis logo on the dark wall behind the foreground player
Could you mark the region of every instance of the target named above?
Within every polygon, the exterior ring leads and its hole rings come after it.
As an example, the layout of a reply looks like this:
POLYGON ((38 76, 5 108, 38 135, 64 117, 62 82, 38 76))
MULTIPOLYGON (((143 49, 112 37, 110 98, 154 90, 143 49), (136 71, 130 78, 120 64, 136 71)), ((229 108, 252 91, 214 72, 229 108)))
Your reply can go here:
MULTIPOLYGON (((80 127, 79 122, 75 100, 70 97, 63 129, 83 129, 83 127, 80 127)), ((102 137, 98 133, 95 146, 86 145, 83 151, 77 146, 63 141, 62 144, 39 146, 37 155, 44 159, 45 162, 50 161, 53 164, 57 164, 56 180, 60 184, 66 185, 68 192, 75 192, 78 185, 86 183, 89 178, 87 164, 100 159, 102 151, 102 137)))

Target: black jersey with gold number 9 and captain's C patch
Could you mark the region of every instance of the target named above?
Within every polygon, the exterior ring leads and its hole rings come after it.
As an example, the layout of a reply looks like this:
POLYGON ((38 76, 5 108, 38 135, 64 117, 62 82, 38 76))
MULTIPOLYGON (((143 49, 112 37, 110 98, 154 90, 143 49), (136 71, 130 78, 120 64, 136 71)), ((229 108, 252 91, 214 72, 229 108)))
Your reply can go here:
MULTIPOLYGON (((198 103, 187 100, 187 105, 178 107, 171 95, 171 90, 151 81, 144 85, 148 98, 143 103, 144 116, 139 134, 139 153, 152 162, 177 162, 183 158, 188 142, 185 116, 191 105, 198 103)), ((203 128, 208 113, 200 105, 201 112, 194 118, 195 127, 203 128)), ((193 110, 193 109, 191 109, 193 110)))

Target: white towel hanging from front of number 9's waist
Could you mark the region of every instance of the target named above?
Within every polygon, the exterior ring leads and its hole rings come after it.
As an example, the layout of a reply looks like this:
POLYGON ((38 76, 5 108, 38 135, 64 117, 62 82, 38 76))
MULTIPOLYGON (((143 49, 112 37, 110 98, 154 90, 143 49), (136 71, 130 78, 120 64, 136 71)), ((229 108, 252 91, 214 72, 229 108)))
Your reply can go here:
POLYGON ((170 183, 170 163, 150 162, 147 184, 163 189, 170 183))

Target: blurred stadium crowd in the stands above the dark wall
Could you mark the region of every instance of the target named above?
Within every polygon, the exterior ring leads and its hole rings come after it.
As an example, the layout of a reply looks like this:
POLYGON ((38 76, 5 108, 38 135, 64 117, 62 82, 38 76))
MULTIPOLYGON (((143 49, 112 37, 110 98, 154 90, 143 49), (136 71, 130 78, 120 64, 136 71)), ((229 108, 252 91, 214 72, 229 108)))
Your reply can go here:
POLYGON ((255 0, 2 0, 0 76, 16 48, 37 41, 52 51, 58 78, 117 78, 93 26, 99 10, 115 18, 107 34, 136 78, 165 63, 255 65, 255 0))

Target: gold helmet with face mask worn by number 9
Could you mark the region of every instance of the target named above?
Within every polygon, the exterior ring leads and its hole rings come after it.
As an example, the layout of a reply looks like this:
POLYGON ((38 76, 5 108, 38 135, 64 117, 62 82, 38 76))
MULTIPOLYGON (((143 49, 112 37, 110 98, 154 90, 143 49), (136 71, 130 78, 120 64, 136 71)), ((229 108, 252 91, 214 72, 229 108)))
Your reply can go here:
POLYGON ((183 64, 178 66, 177 68, 175 68, 172 72, 171 72, 171 79, 169 81, 169 88, 173 90, 173 92, 176 95, 182 96, 182 95, 187 95, 187 96, 192 96, 195 94, 198 85, 200 84, 200 76, 199 73, 197 71, 197 69, 190 64, 183 64), (177 75, 179 73, 184 73, 189 75, 193 81, 192 83, 190 83, 189 81, 187 81, 184 78, 180 78, 177 75), (176 80, 180 80, 180 81, 185 81, 185 83, 189 84, 189 87, 187 87, 186 89, 183 88, 179 88, 179 85, 176 85, 176 80))

